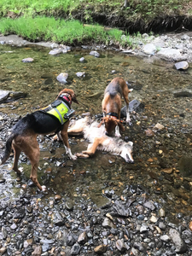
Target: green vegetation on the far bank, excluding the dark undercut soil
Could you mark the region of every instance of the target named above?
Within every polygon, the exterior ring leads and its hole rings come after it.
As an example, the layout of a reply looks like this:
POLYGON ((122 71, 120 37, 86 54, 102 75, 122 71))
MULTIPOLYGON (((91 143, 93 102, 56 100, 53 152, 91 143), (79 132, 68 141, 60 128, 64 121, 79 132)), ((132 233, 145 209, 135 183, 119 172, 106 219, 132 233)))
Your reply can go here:
POLYGON ((4 35, 15 33, 31 41, 131 45, 131 38, 122 31, 115 28, 106 30, 102 26, 95 25, 96 17, 98 20, 101 20, 100 17, 110 20, 112 27, 119 24, 119 20, 123 20, 123 24, 127 20, 136 22, 139 26, 138 20, 148 24, 156 17, 191 15, 190 2, 190 0, 128 0, 125 8, 125 0, 1 0, 0 32, 4 35))

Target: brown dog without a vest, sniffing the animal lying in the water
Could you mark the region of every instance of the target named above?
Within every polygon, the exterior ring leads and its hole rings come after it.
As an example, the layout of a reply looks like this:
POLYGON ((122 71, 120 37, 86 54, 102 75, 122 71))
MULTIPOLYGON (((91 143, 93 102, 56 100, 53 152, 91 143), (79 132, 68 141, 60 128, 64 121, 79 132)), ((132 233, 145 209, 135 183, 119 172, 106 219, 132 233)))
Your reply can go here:
POLYGON ((131 90, 124 79, 114 78, 107 86, 102 100, 102 123, 105 124, 106 135, 110 136, 115 131, 115 136, 120 137, 119 129, 124 131, 120 119, 121 97, 123 96, 126 103, 126 122, 130 123, 129 99, 128 94, 131 90))

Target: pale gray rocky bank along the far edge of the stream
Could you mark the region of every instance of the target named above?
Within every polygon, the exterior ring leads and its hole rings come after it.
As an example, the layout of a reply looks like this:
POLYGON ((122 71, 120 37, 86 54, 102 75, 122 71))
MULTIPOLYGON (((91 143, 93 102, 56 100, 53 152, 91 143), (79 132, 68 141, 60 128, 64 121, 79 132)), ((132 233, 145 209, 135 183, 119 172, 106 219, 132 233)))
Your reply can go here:
MULTIPOLYGON (((42 46, 50 49, 60 48, 60 44, 55 44, 53 42, 32 43, 16 35, 0 36, 0 44, 9 44, 19 47, 42 46)), ((83 49, 118 50, 125 55, 147 57, 148 60, 152 62, 157 59, 172 62, 192 62, 192 32, 166 33, 162 35, 148 35, 147 33, 144 33, 141 37, 131 37, 132 47, 123 48, 114 42, 111 42, 110 44, 111 45, 81 45, 79 47, 83 49)))

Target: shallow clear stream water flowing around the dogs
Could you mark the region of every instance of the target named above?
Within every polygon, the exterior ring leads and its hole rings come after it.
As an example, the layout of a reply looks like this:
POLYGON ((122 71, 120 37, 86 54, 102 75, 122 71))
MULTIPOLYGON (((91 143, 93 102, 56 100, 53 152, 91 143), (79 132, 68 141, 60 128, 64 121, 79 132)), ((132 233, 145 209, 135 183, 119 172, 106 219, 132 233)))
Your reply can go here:
MULTIPOLYGON (((89 53, 76 49, 52 56, 49 49, 0 45, 1 89, 28 93, 24 99, 1 104, 1 113, 12 114, 12 117, 31 113, 53 102, 64 86, 75 90, 79 101, 87 106, 73 103, 77 115, 87 111, 102 113, 103 91, 117 76, 128 81, 134 89, 130 101, 137 99, 145 105, 143 112, 131 113, 133 125, 126 126, 122 136, 129 137, 134 143, 134 165, 102 152, 96 152, 89 160, 73 162, 67 159, 61 143, 40 137, 38 179, 48 188, 45 197, 61 194, 79 201, 86 197, 100 206, 106 201, 102 189, 113 189, 120 195, 125 185, 141 184, 145 186, 146 194, 150 190, 172 216, 177 212, 189 213, 192 209, 192 178, 178 172, 178 162, 183 156, 192 157, 192 104, 191 98, 174 97, 173 93, 191 88, 191 67, 182 73, 175 70, 172 63, 154 58, 142 59, 108 51, 101 52, 101 57, 95 58, 89 53), (82 56, 86 63, 79 62, 82 56), (22 59, 26 57, 32 57, 34 62, 23 63, 22 59), (64 72, 69 74, 70 83, 67 85, 55 79, 64 72), (79 79, 77 72, 85 72, 85 77, 79 79), (164 125, 165 129, 148 137, 145 131, 157 123, 164 125), (171 167, 172 174, 162 172, 171 167)), ((70 142, 72 152, 79 152, 88 144, 82 137, 72 137, 70 142)), ((6 179, 6 183, 0 183, 3 191, 0 197, 4 200, 20 195, 23 191, 20 187, 27 183, 30 176, 31 166, 25 158, 20 160, 25 174, 19 182, 16 181, 16 174, 11 172, 11 164, 10 158, 0 169, 0 177, 6 179)), ((37 195, 35 188, 31 188, 29 193, 37 195)))

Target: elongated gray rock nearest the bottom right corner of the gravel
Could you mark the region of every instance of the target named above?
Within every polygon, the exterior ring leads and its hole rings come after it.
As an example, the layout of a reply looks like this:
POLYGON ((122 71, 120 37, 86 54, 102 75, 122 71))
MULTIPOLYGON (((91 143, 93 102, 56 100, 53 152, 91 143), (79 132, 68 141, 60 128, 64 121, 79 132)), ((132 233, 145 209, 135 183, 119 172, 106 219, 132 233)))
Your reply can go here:
POLYGON ((187 251, 186 243, 183 241, 183 238, 177 230, 170 229, 169 236, 175 244, 176 253, 185 253, 187 251))

